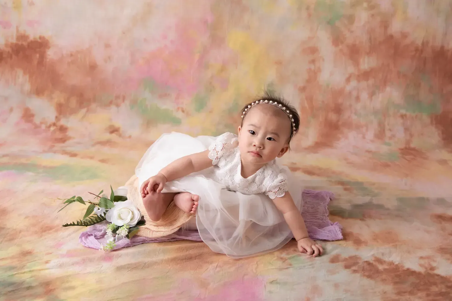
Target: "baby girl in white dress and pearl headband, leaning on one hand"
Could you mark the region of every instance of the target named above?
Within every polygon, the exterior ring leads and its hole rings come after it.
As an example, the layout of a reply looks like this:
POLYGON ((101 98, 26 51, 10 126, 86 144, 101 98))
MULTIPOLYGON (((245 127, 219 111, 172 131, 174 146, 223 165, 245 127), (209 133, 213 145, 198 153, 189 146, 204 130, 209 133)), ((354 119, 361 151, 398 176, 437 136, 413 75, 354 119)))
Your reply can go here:
POLYGON ((268 93, 243 108, 237 134, 162 135, 137 166, 146 212, 158 221, 171 202, 193 214, 202 240, 238 258, 277 250, 293 238, 308 255, 322 255, 301 217, 301 186, 278 163, 300 117, 268 93))

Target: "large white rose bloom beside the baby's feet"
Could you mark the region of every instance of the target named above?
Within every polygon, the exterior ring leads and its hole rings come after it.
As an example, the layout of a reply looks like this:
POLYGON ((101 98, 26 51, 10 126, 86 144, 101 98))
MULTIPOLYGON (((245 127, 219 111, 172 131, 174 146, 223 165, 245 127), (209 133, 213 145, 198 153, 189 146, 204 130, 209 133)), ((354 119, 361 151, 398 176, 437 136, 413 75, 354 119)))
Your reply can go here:
POLYGON ((108 222, 111 222, 119 227, 124 225, 133 227, 140 220, 141 212, 131 200, 114 202, 113 204, 114 207, 108 210, 107 214, 105 214, 105 218, 108 222))

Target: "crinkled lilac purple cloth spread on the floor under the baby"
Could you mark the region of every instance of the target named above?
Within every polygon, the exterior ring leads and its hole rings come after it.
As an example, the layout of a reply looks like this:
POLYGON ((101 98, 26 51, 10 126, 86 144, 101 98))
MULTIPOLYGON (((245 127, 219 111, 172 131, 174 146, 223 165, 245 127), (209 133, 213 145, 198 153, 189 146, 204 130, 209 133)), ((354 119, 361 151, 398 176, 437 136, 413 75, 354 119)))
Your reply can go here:
MULTIPOLYGON (((334 194, 330 191, 303 190, 303 209, 301 216, 305 220, 309 237, 313 240, 337 241, 343 238, 342 226, 338 222, 331 222, 328 218, 328 203, 334 199, 334 194)), ((107 243, 105 238, 105 225, 101 222, 88 228, 80 234, 79 240, 82 245, 88 248, 101 249, 107 243)), ((292 234, 290 234, 292 235, 292 234)), ((116 241, 113 250, 140 245, 148 242, 161 241, 202 241, 198 231, 179 229, 173 234, 148 238, 144 236, 133 236, 132 239, 123 238, 116 241)))

